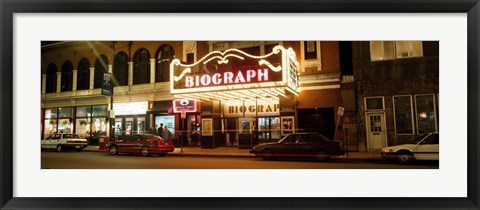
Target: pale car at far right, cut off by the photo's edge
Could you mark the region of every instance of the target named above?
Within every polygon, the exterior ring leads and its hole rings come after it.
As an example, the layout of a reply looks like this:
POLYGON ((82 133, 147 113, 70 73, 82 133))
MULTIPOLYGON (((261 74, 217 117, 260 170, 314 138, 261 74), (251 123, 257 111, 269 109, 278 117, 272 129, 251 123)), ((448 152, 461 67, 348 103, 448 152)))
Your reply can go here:
POLYGON ((385 159, 396 159, 403 164, 413 160, 439 160, 438 143, 439 134, 428 133, 419 136, 411 144, 385 147, 380 154, 385 159))

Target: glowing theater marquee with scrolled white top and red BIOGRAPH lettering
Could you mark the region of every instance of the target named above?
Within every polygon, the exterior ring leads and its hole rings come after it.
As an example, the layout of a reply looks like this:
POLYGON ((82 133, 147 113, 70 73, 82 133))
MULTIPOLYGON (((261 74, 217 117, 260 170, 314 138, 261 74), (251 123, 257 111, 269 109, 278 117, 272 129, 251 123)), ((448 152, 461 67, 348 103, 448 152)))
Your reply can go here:
POLYGON ((297 95, 295 52, 278 45, 267 55, 237 49, 214 51, 194 64, 170 64, 170 91, 176 97, 238 100, 297 95))

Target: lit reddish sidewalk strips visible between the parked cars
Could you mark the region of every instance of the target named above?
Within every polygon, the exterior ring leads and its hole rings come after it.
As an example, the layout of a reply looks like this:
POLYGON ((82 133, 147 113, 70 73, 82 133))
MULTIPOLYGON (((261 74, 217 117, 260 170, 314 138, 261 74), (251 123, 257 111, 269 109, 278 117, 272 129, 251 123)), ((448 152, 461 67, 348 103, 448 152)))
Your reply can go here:
MULTIPOLYGON (((99 146, 89 145, 84 151, 88 152, 107 152, 99 150, 99 146)), ((217 147, 214 149, 202 149, 200 147, 184 147, 175 148, 173 152, 169 152, 169 156, 202 156, 202 157, 242 157, 254 158, 253 154, 248 152, 248 149, 238 149, 238 147, 217 147)), ((380 153, 375 152, 348 152, 348 155, 332 157, 332 159, 343 160, 382 160, 380 153)))

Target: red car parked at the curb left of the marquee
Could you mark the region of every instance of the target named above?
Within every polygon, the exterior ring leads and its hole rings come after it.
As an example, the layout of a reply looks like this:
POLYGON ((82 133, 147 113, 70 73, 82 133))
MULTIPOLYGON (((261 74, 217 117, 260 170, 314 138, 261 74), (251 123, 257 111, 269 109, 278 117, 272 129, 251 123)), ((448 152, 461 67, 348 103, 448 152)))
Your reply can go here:
POLYGON ((140 153, 143 156, 151 154, 165 156, 168 152, 173 152, 175 146, 172 139, 162 139, 154 134, 135 134, 127 136, 123 140, 108 142, 105 148, 111 155, 140 153))

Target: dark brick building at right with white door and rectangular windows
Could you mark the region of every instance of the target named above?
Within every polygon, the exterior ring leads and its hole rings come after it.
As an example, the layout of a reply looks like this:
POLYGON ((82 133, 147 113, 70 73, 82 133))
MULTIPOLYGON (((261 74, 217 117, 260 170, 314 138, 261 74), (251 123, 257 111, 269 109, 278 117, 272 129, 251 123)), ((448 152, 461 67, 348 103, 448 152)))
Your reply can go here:
POLYGON ((359 151, 411 142, 439 128, 439 42, 352 42, 359 151))

